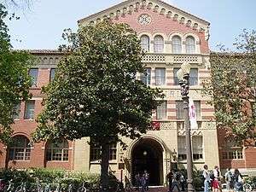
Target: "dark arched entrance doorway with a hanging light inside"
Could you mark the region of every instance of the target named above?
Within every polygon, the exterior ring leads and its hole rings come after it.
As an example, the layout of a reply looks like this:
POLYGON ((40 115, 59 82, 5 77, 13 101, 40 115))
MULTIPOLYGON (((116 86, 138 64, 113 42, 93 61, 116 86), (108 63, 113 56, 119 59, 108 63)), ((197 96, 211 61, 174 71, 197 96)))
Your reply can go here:
POLYGON ((131 177, 135 183, 135 175, 149 173, 149 185, 163 184, 163 148, 152 138, 141 138, 131 151, 131 177))

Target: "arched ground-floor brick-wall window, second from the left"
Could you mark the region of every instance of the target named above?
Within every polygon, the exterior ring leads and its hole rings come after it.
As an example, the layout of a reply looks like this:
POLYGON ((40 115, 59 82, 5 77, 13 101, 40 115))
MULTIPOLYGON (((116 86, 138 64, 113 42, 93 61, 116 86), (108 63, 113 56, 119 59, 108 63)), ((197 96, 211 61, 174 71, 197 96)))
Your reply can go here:
POLYGON ((68 160, 68 143, 65 139, 50 141, 47 145, 46 160, 68 160))

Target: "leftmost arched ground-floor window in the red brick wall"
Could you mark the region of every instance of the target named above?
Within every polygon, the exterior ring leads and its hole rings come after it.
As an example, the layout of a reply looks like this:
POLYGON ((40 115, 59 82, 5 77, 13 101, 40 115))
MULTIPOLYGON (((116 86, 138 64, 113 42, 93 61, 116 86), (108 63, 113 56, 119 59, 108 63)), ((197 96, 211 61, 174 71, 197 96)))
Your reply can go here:
POLYGON ((9 160, 30 160, 31 146, 25 136, 15 136, 9 148, 9 160))

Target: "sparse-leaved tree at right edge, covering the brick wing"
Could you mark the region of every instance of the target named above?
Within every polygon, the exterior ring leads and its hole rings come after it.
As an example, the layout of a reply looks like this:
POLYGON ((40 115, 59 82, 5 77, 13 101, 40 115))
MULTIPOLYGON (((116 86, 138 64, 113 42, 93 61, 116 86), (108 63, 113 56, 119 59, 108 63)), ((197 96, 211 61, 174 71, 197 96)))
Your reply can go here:
POLYGON ((211 79, 204 91, 212 97, 219 129, 237 141, 256 138, 256 32, 244 30, 236 52, 221 48, 211 55, 211 79))

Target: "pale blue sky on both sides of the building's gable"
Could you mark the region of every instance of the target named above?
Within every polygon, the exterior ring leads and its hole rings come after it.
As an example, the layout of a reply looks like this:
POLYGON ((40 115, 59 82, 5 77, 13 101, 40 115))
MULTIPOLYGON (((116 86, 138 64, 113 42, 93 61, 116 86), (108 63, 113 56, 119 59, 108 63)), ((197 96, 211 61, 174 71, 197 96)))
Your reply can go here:
MULTIPOLYGON (((77 20, 122 0, 33 0, 31 10, 17 12, 9 22, 15 49, 56 49, 65 28, 77 29, 77 20)), ((210 48, 232 48, 243 28, 256 29, 256 0, 166 0, 173 6, 211 22, 210 48)))

